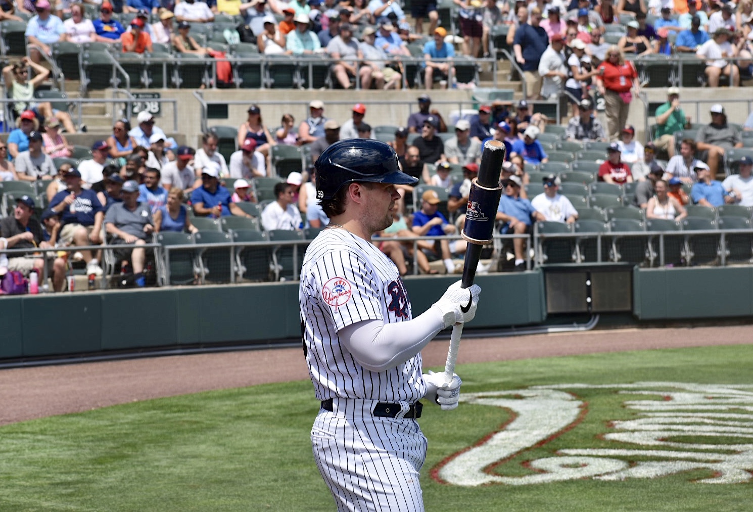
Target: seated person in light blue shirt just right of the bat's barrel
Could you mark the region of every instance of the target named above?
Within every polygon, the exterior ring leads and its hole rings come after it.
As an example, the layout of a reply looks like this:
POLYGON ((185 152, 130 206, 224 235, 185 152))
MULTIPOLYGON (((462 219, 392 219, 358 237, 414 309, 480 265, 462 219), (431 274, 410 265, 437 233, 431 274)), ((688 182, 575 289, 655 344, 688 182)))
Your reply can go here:
MULTIPOLYGON (((501 227, 501 233, 521 235, 524 233, 531 234, 533 221, 545 221, 544 214, 538 212, 527 199, 520 197, 520 188, 523 187, 523 181, 516 176, 511 175, 502 181, 505 187, 505 194, 499 199, 496 220, 505 224, 501 227)), ((515 252, 515 270, 526 270, 525 258, 526 240, 516 238, 513 240, 515 252)))

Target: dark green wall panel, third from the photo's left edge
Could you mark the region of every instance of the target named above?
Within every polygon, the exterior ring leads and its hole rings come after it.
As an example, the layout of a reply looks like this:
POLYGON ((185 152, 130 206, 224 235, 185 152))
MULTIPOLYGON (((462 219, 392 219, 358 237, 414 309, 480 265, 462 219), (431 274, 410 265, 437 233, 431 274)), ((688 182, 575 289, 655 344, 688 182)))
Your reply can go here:
POLYGON ((117 291, 102 294, 102 349, 178 343, 178 292, 117 291))

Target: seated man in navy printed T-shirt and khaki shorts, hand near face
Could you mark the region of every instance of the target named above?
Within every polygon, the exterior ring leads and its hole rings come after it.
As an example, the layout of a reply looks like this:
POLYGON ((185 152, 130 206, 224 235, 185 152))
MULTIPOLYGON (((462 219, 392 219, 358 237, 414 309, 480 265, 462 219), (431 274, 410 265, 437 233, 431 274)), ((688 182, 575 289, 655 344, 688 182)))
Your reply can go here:
MULTIPOLYGON (((70 169, 66 173, 67 189, 50 201, 50 209, 60 215, 60 242, 64 245, 99 245, 102 243, 102 203, 94 190, 81 187, 81 172, 70 169)), ((102 276, 102 267, 91 251, 81 251, 87 262, 87 275, 102 276)))

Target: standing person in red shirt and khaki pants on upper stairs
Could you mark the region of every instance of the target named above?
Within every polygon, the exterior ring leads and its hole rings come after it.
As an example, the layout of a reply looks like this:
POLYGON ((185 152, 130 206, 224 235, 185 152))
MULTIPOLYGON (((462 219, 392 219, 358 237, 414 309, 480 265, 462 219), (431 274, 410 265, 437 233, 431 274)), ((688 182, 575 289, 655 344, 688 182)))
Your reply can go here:
POLYGON ((626 62, 617 46, 609 47, 604 62, 597 69, 596 88, 604 96, 609 140, 614 142, 620 139, 620 133, 627 123, 633 94, 637 96, 640 92, 636 80, 638 72, 631 62, 626 62))

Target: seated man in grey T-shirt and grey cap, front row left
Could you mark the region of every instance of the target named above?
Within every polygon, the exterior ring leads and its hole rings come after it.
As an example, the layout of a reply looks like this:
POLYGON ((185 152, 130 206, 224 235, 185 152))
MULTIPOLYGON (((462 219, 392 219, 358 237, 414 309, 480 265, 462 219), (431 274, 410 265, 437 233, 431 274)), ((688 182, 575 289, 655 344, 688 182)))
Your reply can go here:
POLYGON ((146 284, 146 250, 141 245, 154 233, 151 215, 149 205, 141 201, 136 181, 123 184, 123 202, 112 205, 105 215, 105 230, 113 237, 111 245, 133 245, 133 248, 116 248, 113 252, 117 261, 131 262, 133 279, 139 288, 146 284))

